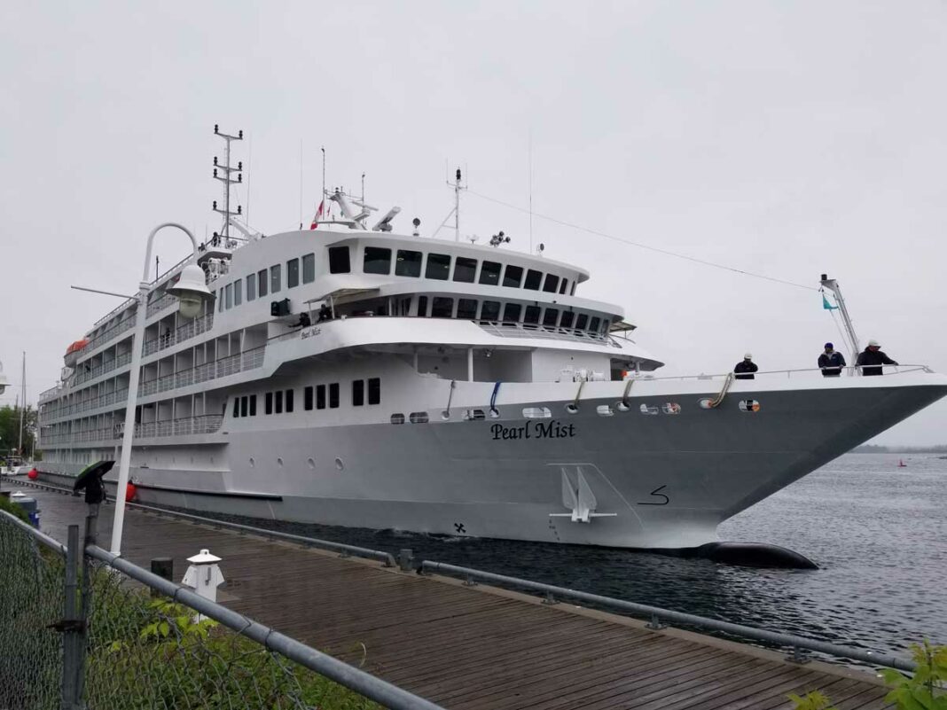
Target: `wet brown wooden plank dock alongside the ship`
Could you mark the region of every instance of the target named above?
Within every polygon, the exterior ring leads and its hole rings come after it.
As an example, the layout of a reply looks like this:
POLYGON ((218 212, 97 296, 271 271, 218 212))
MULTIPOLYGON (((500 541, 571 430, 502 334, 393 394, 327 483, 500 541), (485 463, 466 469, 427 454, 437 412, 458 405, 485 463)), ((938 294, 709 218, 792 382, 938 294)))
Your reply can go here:
MULTIPOLYGON (((4 488, 18 482, 5 480, 4 488)), ((82 524, 78 497, 26 488, 43 530, 64 540, 82 524)), ((112 506, 101 514, 108 548, 112 506)), ((81 529, 81 528, 80 528, 81 529)), ((235 611, 456 710, 760 710, 790 708, 787 693, 821 690, 839 710, 876 710, 886 690, 842 666, 789 663, 782 654, 447 577, 242 535, 130 508, 123 556, 148 567, 206 547, 223 558, 219 597, 235 611)))

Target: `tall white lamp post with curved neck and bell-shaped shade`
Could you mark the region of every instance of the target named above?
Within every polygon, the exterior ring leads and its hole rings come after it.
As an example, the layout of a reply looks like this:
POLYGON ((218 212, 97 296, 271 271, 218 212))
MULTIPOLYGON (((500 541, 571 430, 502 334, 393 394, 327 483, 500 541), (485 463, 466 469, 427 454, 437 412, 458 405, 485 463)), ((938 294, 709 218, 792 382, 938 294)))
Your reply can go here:
POLYGON ((204 270, 197 265, 197 240, 187 227, 176 222, 158 224, 148 235, 148 250, 145 253, 145 268, 141 273, 141 283, 138 284, 138 310, 134 320, 134 338, 132 339, 132 366, 129 372, 128 401, 125 403, 125 429, 121 439, 121 457, 118 463, 118 489, 116 490, 116 516, 112 524, 112 554, 121 554, 121 533, 125 523, 125 490, 128 488, 128 470, 132 463, 132 439, 134 438, 134 408, 138 399, 138 370, 141 368, 141 346, 145 336, 145 322, 148 320, 148 271, 152 265, 152 243, 154 235, 165 227, 180 229, 190 238, 194 247, 194 263, 188 264, 181 270, 178 282, 166 289, 168 293, 176 295, 181 301, 181 314, 186 318, 194 318, 201 312, 201 306, 210 300, 210 290, 207 288, 204 270))

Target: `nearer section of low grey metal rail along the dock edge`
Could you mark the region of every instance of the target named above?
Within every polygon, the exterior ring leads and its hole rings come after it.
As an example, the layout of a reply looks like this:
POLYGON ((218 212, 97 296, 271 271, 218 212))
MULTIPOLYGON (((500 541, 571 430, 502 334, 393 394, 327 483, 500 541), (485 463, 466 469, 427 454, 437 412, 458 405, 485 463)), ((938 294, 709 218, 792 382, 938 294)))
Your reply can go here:
POLYGON ((534 582, 529 579, 497 575, 492 572, 484 572, 469 567, 458 567, 457 565, 447 564, 446 562, 433 562, 425 559, 420 563, 420 573, 458 577, 464 579, 469 585, 474 585, 477 581, 481 581, 502 587, 528 590, 543 595, 546 603, 550 604, 557 601, 568 601, 592 609, 606 609, 610 612, 619 612, 630 616, 646 618, 650 620, 649 626, 652 629, 660 629, 663 626, 662 622, 668 622, 683 627, 719 631, 777 647, 789 648, 793 652, 793 658, 804 658, 804 651, 813 650, 836 658, 860 661, 872 667, 886 666, 906 671, 914 671, 917 669, 917 666, 912 661, 889 652, 874 652, 863 648, 840 646, 828 641, 806 638, 805 636, 796 636, 791 633, 758 629, 742 624, 734 624, 729 621, 711 619, 706 616, 698 616, 692 613, 675 612, 670 609, 661 609, 660 607, 652 607, 647 604, 638 604, 633 601, 616 599, 612 596, 594 595, 589 592, 566 589, 543 582, 534 582))

